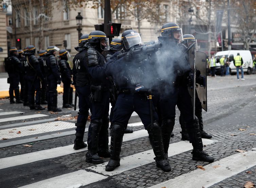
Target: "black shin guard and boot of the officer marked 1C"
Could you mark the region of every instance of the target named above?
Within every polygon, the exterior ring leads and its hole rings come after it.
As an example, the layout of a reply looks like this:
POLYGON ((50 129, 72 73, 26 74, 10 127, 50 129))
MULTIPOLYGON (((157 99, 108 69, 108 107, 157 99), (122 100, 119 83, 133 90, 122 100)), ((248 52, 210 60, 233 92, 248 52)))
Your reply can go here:
POLYGON ((87 147, 87 144, 84 143, 84 135, 85 135, 85 126, 86 123, 76 123, 76 138, 74 140, 73 149, 78 150, 81 148, 87 147))

